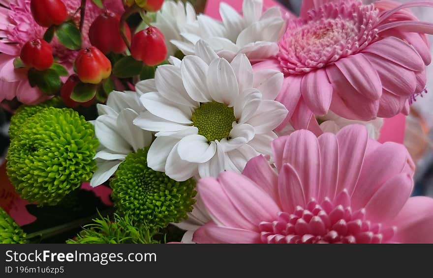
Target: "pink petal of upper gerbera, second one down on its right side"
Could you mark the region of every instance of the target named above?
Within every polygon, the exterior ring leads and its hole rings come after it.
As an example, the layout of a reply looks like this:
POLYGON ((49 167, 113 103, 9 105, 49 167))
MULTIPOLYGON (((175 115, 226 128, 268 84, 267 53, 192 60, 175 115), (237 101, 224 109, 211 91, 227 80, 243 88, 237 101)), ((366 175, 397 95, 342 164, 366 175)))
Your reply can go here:
POLYGON ((384 89, 406 97, 415 91, 416 78, 413 71, 375 54, 366 53, 365 56, 377 71, 384 89))

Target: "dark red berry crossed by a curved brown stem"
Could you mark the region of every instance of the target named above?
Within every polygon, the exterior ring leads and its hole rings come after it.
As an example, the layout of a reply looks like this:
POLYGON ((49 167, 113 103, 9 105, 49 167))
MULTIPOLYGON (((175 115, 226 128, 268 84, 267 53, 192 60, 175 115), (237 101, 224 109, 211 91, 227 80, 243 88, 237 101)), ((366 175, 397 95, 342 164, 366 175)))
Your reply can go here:
MULTIPOLYGON (((125 25, 128 41, 131 41, 131 30, 125 25)), ((89 29, 89 38, 92 45, 104 54, 110 52, 123 53, 126 45, 120 34, 120 16, 105 12, 93 21, 89 29)))

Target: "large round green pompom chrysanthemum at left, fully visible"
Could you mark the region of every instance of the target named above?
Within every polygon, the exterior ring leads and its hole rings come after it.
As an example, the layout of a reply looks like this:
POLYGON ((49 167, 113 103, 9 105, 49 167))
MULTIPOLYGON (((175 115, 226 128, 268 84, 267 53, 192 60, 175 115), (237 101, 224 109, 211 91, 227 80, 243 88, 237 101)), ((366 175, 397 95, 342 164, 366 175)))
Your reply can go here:
POLYGON ((83 116, 67 108, 46 108, 32 116, 11 140, 7 174, 23 198, 55 205, 90 180, 98 140, 83 116))

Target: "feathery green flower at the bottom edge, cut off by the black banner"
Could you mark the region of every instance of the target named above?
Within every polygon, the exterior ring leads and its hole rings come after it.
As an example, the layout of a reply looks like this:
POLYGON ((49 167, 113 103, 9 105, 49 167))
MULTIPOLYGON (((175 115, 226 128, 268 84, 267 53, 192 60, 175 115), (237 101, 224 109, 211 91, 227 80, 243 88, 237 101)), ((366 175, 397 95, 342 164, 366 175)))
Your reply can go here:
POLYGON ((153 237, 144 224, 135 227, 128 217, 115 215, 115 221, 107 218, 94 219, 94 223, 84 226, 84 229, 66 243, 160 243, 153 237))

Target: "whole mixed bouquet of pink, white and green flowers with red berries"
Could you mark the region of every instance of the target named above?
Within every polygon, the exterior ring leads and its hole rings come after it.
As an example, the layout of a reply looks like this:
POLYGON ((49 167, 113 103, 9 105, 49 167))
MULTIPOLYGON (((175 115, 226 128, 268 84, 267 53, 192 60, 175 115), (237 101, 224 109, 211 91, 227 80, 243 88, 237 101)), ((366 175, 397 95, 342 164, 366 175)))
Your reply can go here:
POLYGON ((425 93, 409 8, 433 1, 207 4, 0 0, 6 172, 37 217, 0 210, 0 242, 433 243, 377 140, 425 93))

